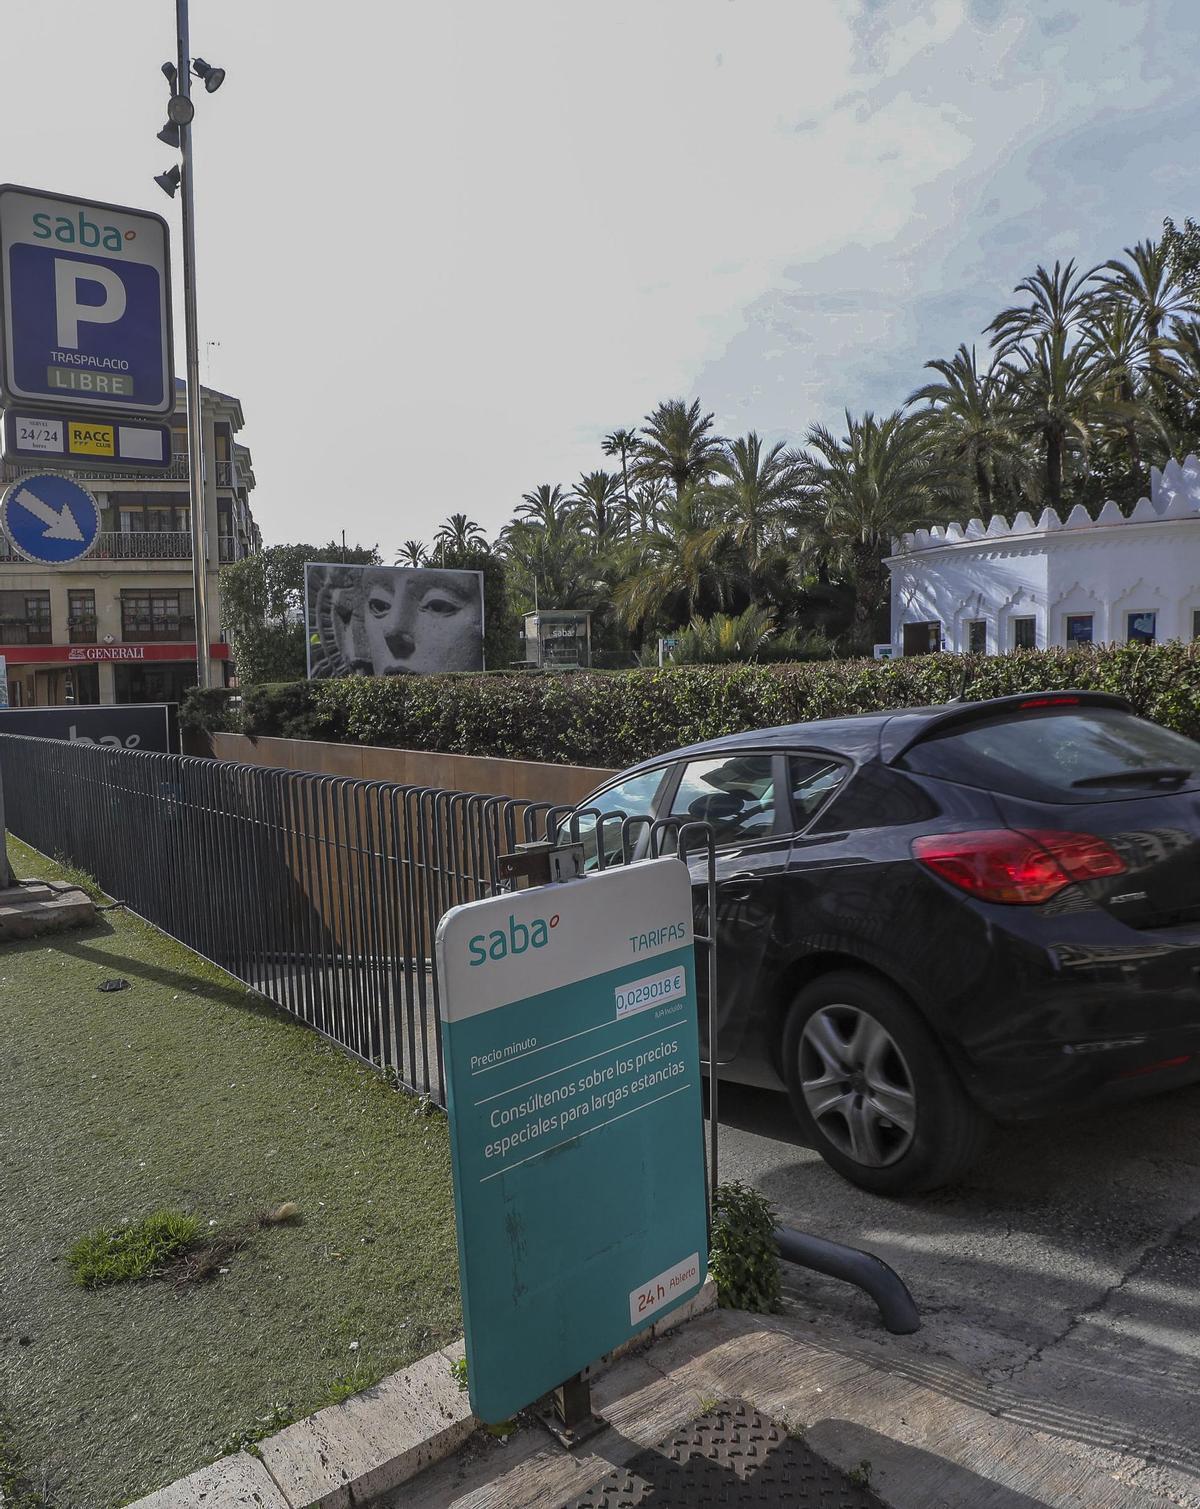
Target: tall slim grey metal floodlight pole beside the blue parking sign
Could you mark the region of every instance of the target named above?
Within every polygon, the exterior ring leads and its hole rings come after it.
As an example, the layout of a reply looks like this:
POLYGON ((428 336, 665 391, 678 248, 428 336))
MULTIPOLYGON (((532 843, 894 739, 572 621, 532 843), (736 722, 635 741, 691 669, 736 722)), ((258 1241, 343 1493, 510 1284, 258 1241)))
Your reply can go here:
MULTIPOLYGON (((187 38, 187 0, 175 0, 178 72, 175 92, 192 98, 192 57, 187 38)), ((196 620, 196 682, 210 682, 208 531, 204 518, 204 424, 201 415, 199 335, 196 330, 196 202, 192 187, 192 121, 180 122, 180 187, 183 190, 183 314, 187 347, 187 480, 192 506, 192 596, 196 620)))

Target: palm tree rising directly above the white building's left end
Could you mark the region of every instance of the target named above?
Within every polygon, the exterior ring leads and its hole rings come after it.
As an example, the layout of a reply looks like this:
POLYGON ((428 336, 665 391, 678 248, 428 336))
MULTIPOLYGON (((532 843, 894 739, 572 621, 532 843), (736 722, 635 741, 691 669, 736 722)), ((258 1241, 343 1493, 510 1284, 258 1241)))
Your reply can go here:
POLYGON ((980 371, 975 347, 960 346, 949 361, 925 362, 942 382, 910 392, 906 406, 927 403, 927 429, 937 450, 972 477, 975 501, 992 512, 996 463, 1017 454, 1005 368, 980 371))

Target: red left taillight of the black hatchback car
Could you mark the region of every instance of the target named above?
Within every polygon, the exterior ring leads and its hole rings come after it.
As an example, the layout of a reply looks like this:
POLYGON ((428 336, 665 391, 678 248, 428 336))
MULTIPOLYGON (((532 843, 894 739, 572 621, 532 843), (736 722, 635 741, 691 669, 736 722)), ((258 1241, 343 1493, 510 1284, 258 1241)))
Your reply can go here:
POLYGON ((981 901, 1035 907, 1078 880, 1120 875, 1125 860, 1093 833, 984 828, 913 839, 913 857, 981 901))

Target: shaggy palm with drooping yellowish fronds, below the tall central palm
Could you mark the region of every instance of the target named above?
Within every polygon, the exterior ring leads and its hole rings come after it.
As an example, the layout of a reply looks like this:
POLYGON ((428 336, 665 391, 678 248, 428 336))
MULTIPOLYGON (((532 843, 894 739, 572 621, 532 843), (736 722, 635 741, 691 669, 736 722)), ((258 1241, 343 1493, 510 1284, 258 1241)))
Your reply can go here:
POLYGON ((629 629, 675 626, 703 602, 723 608, 744 579, 741 552, 699 487, 684 489, 629 549, 613 605, 629 629))

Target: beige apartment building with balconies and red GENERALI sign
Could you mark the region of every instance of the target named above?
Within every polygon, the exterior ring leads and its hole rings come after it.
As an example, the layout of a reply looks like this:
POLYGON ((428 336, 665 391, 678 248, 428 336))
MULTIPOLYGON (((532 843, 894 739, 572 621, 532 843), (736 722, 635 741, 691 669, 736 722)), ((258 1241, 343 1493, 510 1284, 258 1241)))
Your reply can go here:
MULTIPOLYGON (((0 534, 0 655, 14 706, 178 702, 196 682, 187 416, 175 385, 168 471, 72 471, 101 509, 101 534, 69 566, 26 561, 0 534)), ((201 389, 210 679, 228 681, 217 570, 261 546, 242 403, 201 389)), ((8 486, 50 466, 3 465, 8 486)))

